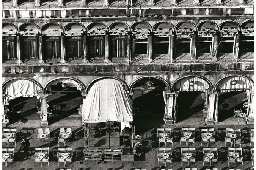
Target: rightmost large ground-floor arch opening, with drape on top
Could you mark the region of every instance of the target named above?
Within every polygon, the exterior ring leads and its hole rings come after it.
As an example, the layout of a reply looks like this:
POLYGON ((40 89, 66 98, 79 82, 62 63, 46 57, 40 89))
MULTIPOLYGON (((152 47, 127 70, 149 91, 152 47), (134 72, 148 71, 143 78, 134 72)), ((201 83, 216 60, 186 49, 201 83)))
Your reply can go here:
MULTIPOLYGON (((250 103, 253 89, 252 80, 242 75, 226 76, 218 80, 214 85, 214 91, 218 92, 218 122, 237 122, 239 113, 235 113, 235 110, 248 116, 250 110, 245 107, 245 103, 250 103)), ((238 124, 244 124, 244 121, 238 124)))

